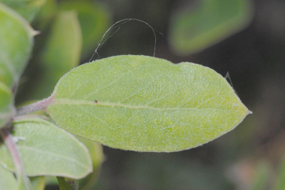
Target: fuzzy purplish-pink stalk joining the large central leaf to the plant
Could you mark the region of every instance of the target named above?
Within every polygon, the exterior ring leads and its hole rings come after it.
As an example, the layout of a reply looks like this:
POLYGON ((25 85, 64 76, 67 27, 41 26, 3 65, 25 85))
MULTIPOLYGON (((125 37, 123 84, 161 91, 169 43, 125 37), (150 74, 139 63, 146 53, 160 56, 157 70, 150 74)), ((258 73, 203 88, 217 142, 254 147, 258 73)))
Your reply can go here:
POLYGON ((32 112, 45 109, 53 100, 54 94, 41 101, 20 107, 17 109, 17 115, 30 114, 32 112))

